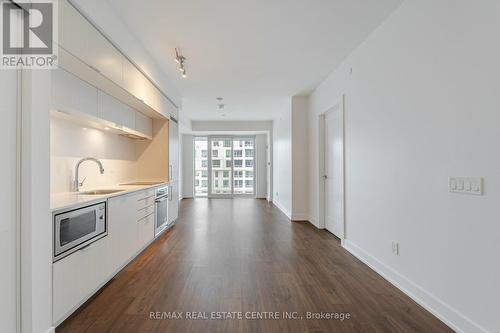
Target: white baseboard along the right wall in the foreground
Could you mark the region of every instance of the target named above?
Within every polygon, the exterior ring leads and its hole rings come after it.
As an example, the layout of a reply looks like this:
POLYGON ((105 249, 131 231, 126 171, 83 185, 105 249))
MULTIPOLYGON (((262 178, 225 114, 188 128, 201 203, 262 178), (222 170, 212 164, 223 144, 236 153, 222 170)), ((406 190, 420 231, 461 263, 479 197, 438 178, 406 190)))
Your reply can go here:
POLYGON ((488 331, 479 324, 379 261, 348 239, 344 241, 343 247, 456 332, 488 333, 488 331))

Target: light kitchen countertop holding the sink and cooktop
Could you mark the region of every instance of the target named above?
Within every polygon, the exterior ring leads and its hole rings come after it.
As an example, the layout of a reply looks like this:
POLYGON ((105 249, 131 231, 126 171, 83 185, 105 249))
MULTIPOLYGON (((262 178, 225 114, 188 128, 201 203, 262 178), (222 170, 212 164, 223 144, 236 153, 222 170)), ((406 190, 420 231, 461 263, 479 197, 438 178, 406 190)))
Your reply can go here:
MULTIPOLYGON (((54 193, 50 195, 50 210, 52 212, 59 210, 74 209, 81 206, 87 206, 94 203, 105 201, 112 197, 117 197, 120 195, 125 195, 137 191, 143 191, 147 189, 152 189, 160 186, 167 185, 168 182, 148 184, 148 185, 115 185, 106 186, 100 189, 106 190, 120 190, 120 192, 109 193, 109 194, 99 194, 99 195, 88 195, 80 194, 78 192, 64 192, 64 193, 54 193)), ((82 192, 91 191, 93 189, 84 189, 82 192)))

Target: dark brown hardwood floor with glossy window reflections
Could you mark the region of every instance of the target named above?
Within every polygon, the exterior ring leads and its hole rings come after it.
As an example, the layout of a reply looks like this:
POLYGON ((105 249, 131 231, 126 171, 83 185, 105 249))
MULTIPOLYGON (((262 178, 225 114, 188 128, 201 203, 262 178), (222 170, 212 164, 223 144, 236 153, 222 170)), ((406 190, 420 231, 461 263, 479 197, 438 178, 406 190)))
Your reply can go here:
POLYGON ((264 200, 182 200, 179 215, 57 332, 452 332, 330 233, 292 223, 264 200), (287 311, 297 319, 283 319, 287 311), (186 319, 186 312, 280 318, 186 319), (349 319, 301 318, 307 312, 349 319))

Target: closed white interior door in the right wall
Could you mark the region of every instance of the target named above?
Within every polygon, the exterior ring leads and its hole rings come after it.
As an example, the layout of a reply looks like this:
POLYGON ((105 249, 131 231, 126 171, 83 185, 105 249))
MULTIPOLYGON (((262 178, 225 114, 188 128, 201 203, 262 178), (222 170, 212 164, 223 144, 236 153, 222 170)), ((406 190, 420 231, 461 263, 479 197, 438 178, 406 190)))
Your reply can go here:
POLYGON ((325 228, 344 237, 344 120, 341 104, 324 115, 325 228))

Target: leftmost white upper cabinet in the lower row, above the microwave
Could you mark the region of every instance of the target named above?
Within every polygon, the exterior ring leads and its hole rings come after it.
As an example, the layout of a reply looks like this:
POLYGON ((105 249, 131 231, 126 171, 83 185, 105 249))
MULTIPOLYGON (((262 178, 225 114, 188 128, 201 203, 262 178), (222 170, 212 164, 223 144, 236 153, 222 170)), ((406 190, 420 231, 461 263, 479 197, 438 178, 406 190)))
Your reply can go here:
POLYGON ((97 117, 97 88, 64 69, 52 71, 52 107, 97 117))

